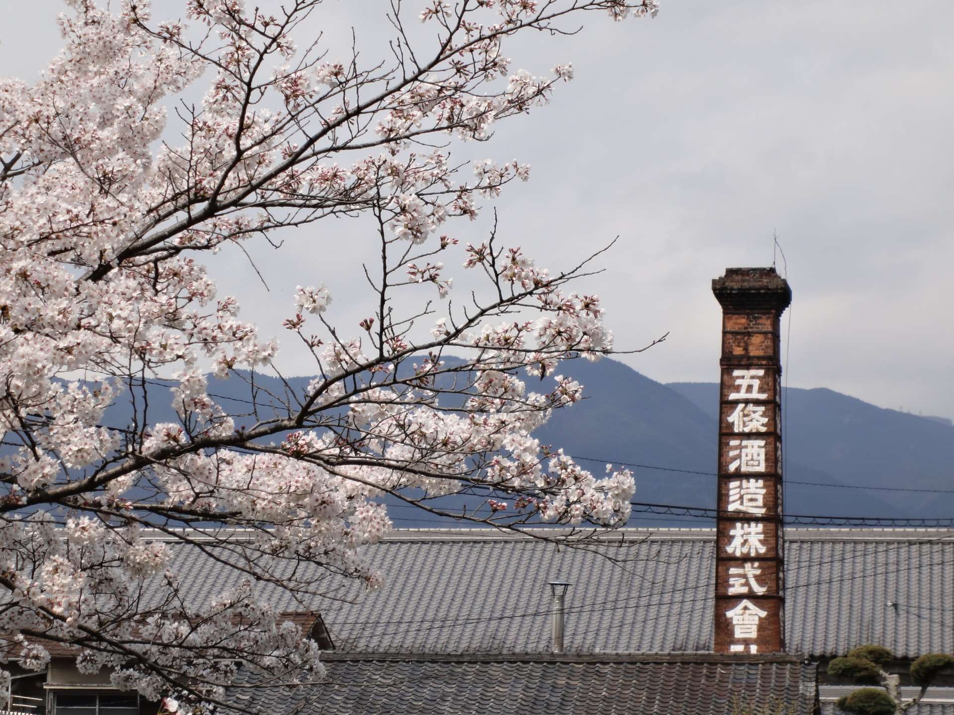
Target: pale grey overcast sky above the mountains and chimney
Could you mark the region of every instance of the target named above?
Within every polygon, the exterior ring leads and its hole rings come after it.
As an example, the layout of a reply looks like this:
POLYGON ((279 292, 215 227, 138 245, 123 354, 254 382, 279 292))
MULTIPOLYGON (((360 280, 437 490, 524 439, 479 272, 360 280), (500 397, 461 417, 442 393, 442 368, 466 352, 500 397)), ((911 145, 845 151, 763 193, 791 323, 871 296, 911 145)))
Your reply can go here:
MULTIPOLYGON (((385 5, 329 0, 321 27, 349 38, 354 26, 380 50, 365 17, 385 5)), ((59 9, 3 3, 0 74, 42 70, 59 9)), ((570 60, 576 79, 478 150, 533 166, 496 202, 505 242, 558 268, 619 235, 608 270, 582 287, 603 297, 617 347, 670 333, 623 359, 661 381, 715 381, 710 281, 771 264, 777 232, 794 293, 790 385, 954 417, 954 3, 664 0, 653 21, 586 20, 572 38, 508 52, 537 74, 570 60)), ((456 235, 477 238, 490 219, 456 235)), ((363 232, 327 222, 255 250, 268 292, 243 256, 224 255, 221 290, 280 335, 294 286, 323 281, 330 317, 355 326, 369 313, 353 250, 363 232)))

